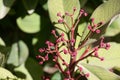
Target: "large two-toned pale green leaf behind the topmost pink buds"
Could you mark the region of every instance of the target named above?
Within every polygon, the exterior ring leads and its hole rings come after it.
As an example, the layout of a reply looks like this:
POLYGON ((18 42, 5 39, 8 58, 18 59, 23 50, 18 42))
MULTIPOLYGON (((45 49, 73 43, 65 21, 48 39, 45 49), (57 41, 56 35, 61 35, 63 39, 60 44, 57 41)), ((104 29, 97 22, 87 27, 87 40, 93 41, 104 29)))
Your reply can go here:
MULTIPOLYGON (((79 0, 48 0, 48 10, 50 14, 50 19, 53 23, 58 22, 59 17, 57 16, 57 13, 60 12, 62 15, 65 14, 65 12, 69 12, 72 14, 73 8, 76 7, 77 11, 74 15, 74 21, 78 16, 79 10, 80 10, 80 4, 79 0)), ((69 17, 65 18, 65 21, 67 24, 71 27, 71 19, 69 17)), ((58 28, 58 32, 67 32, 68 29, 64 27, 63 24, 55 24, 55 27, 58 28)))

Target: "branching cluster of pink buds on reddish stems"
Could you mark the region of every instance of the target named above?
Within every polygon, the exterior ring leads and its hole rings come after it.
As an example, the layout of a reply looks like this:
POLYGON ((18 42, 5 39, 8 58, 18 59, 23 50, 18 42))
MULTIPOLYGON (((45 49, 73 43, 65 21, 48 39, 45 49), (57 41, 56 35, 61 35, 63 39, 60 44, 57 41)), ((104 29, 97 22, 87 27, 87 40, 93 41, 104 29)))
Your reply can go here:
MULTIPOLYGON (((70 14, 68 12, 65 13, 65 16, 69 16, 71 18, 71 21, 73 21, 73 15, 75 14, 76 8, 73 8, 73 13, 70 14)), ((83 41, 79 44, 79 46, 76 48, 75 43, 76 43, 76 36, 75 34, 75 29, 78 26, 78 23, 80 21, 80 18, 82 16, 87 16, 87 13, 81 9, 78 15, 77 20, 72 23, 71 26, 68 26, 68 24, 65 22, 63 15, 59 12, 57 13, 57 16, 60 18, 58 20, 58 23, 65 25, 69 29, 69 34, 70 38, 66 39, 65 34, 61 33, 60 35, 57 35, 57 32, 55 30, 52 30, 51 34, 55 37, 55 42, 51 41, 46 41, 46 48, 40 48, 39 52, 44 53, 44 56, 37 55, 36 58, 40 60, 39 64, 43 64, 45 61, 49 60, 49 55, 53 56, 53 61, 55 62, 55 67, 61 71, 61 73, 64 76, 64 80, 79 80, 80 77, 85 76, 89 77, 89 73, 84 73, 83 68, 78 65, 78 62, 88 58, 88 57, 96 57, 100 59, 101 61, 104 60, 103 57, 100 57, 98 55, 98 50, 100 48, 105 48, 108 50, 110 48, 109 43, 104 43, 104 38, 102 37, 100 40, 99 45, 95 46, 93 49, 90 49, 88 46, 86 50, 82 53, 82 55, 77 59, 78 51, 81 50, 84 46, 85 43, 89 40, 89 37, 95 32, 95 33, 100 33, 99 26, 101 26, 103 23, 100 22, 98 24, 94 24, 94 18, 91 19, 90 25, 88 25, 89 33, 85 37, 83 41), (65 48, 62 48, 60 50, 60 47, 64 46, 65 48), (65 61, 65 59, 61 56, 61 54, 65 55, 70 55, 70 62, 65 61), (59 60, 62 61, 62 65, 59 63, 59 60), (66 69, 64 70, 62 66, 65 66, 66 69), (74 73, 76 73, 77 70, 75 70, 75 67, 77 67, 80 72, 80 75, 75 77, 74 73)), ((47 79, 49 80, 49 79, 47 79)))

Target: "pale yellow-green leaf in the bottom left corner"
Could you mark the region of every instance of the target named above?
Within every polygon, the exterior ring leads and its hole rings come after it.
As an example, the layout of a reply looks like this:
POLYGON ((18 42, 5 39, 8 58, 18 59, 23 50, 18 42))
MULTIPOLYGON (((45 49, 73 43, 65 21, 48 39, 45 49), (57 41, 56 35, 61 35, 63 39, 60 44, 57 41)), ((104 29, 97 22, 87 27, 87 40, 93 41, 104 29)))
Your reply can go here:
POLYGON ((8 70, 0 67, 0 79, 15 78, 15 76, 8 70))

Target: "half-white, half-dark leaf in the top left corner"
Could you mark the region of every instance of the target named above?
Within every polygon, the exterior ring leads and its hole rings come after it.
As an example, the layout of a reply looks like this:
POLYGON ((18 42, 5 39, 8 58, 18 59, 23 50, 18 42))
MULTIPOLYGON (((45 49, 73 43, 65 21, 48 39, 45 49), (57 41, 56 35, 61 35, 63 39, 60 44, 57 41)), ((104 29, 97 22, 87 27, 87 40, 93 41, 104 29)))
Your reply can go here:
POLYGON ((0 0, 0 19, 7 15, 14 1, 15 0, 0 0))

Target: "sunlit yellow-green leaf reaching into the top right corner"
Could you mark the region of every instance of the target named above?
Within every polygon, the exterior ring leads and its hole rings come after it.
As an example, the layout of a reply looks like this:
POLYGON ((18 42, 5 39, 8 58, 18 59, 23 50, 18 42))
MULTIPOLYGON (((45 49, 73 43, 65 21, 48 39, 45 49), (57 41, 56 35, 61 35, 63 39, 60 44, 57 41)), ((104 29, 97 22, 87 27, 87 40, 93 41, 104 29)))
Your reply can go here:
POLYGON ((95 23, 103 21, 107 23, 115 15, 120 13, 120 0, 109 0, 101 4, 92 14, 91 18, 95 18, 95 23))

